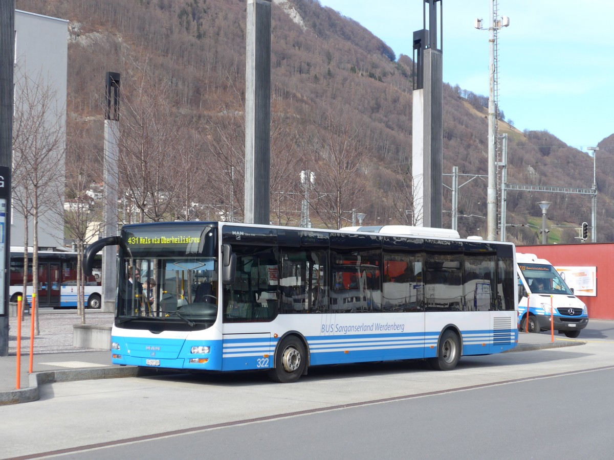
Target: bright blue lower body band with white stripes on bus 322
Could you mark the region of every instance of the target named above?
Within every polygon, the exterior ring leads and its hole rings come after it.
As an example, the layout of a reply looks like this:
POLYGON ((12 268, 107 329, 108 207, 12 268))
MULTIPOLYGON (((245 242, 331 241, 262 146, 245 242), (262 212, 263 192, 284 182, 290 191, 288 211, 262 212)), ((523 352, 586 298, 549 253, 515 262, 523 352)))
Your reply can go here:
MULTIPOLYGON (((485 355, 513 348, 515 329, 465 331, 462 333, 463 355, 485 355)), ((422 359, 437 356, 439 332, 408 334, 316 335, 306 337, 310 363, 342 364, 351 362, 422 359)), ((147 360, 159 360, 160 367, 174 369, 248 370, 274 366, 274 351, 279 339, 274 337, 222 340, 184 340, 168 338, 113 337, 120 343, 122 355, 114 364, 146 366, 147 360), (190 353, 193 346, 209 346, 209 355, 190 353), (190 363, 190 358, 208 358, 206 363, 190 363)), ((150 361, 151 362, 151 361, 150 361)))

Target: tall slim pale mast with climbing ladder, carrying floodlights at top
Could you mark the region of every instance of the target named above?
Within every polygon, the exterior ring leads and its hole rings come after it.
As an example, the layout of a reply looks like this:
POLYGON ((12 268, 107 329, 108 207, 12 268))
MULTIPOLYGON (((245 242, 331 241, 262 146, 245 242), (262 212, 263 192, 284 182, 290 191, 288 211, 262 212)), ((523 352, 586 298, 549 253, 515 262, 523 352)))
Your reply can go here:
POLYGON ((488 230, 488 240, 497 237, 497 168, 496 168, 496 149, 495 149, 495 21, 494 21, 494 2, 491 0, 490 6, 490 26, 489 34, 489 56, 490 56, 490 82, 488 96, 488 193, 486 209, 486 227, 488 230))

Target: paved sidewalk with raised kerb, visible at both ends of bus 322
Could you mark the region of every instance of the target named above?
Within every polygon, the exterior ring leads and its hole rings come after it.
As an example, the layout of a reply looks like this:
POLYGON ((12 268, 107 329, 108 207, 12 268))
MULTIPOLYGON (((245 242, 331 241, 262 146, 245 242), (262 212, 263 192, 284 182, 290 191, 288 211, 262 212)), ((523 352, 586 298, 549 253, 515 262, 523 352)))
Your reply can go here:
MULTIPOLYGON (((86 310, 86 324, 110 326, 114 313, 86 310)), ((36 401, 38 386, 57 381, 91 380, 96 378, 134 377, 149 375, 148 369, 133 366, 113 366, 111 351, 72 346, 72 325, 79 324, 76 310, 39 312, 39 335, 34 337, 33 374, 29 374, 30 316, 21 323, 21 372, 17 388, 17 318, 9 319, 9 356, 0 357, 0 405, 36 401)), ((559 340, 562 336, 519 333, 518 347, 511 351, 581 345, 576 340, 559 340)))

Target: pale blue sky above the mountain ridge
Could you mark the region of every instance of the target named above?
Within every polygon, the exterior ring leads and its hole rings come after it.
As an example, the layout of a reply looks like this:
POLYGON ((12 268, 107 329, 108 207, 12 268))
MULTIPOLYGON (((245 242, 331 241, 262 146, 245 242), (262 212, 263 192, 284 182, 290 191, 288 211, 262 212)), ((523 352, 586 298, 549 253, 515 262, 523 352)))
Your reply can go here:
MULTIPOLYGON (((320 0, 412 56, 422 1, 320 0)), ((491 0, 443 2, 443 81, 488 96, 491 0)), ((614 134, 614 1, 499 0, 499 107, 520 129, 586 147, 614 134)), ((428 28, 428 25, 427 25, 428 28)))

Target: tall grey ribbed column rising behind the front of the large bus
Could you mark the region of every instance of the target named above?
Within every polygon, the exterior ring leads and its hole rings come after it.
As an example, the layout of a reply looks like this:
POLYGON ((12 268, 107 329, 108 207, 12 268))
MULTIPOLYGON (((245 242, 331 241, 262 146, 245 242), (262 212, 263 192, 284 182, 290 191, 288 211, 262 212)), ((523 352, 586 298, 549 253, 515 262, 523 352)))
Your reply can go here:
POLYGON ((271 2, 247 0, 245 216, 270 222, 271 2))

